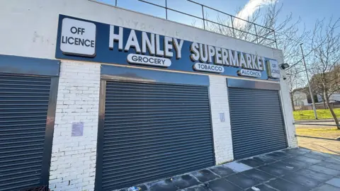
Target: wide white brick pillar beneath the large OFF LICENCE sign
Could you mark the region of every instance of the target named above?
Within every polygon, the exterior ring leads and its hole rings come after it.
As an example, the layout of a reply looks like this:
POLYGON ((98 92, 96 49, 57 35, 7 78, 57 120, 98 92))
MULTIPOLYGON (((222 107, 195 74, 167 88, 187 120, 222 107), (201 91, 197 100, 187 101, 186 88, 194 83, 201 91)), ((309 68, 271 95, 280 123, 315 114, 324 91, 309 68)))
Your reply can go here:
POLYGON ((100 64, 63 61, 50 167, 51 190, 94 190, 100 64), (82 137, 71 137, 72 122, 84 122, 82 137))

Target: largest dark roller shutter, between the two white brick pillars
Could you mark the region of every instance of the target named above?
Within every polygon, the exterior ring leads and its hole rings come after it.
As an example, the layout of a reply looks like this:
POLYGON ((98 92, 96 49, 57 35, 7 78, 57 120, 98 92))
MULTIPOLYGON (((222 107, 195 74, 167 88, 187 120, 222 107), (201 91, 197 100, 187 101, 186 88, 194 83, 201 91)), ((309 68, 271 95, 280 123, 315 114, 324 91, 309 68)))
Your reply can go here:
POLYGON ((102 189, 214 166, 208 87, 107 81, 102 189))

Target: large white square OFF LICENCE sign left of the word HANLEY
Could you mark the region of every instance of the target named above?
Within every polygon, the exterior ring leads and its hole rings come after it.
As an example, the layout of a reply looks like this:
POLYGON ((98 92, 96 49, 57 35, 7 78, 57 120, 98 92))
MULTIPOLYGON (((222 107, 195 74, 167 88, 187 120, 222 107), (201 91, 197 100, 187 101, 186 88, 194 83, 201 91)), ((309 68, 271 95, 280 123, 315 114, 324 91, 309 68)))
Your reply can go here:
POLYGON ((60 50, 85 57, 96 55, 96 25, 71 18, 62 20, 60 50))

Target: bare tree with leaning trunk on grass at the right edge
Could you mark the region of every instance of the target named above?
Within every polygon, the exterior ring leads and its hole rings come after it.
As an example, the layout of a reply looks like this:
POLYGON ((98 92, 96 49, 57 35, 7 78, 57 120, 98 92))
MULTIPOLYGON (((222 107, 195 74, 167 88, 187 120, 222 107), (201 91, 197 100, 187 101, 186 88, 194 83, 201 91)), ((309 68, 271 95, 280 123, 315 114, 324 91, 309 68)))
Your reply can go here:
POLYGON ((312 66, 312 87, 322 92, 322 97, 336 125, 339 120, 329 103, 329 98, 340 91, 340 18, 334 21, 329 18, 317 21, 312 34, 311 46, 314 52, 314 63, 312 66))

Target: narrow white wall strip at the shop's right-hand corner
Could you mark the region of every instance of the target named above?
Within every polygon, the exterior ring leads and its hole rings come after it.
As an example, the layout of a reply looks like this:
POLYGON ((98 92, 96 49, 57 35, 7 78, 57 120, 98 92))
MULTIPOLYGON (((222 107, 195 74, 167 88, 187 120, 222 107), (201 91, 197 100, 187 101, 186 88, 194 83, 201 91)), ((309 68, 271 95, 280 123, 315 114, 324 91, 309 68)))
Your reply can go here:
MULTIPOLYGON (((278 60, 279 64, 283 64, 283 53, 281 50, 273 50, 274 59, 278 60)), ((293 108, 290 104, 289 89, 287 81, 283 80, 285 76, 285 70, 281 69, 281 79, 280 79, 280 98, 283 109, 283 116, 285 120, 285 132, 287 134, 288 146, 291 148, 297 147, 297 139, 295 137, 295 125, 293 118, 293 108)))

